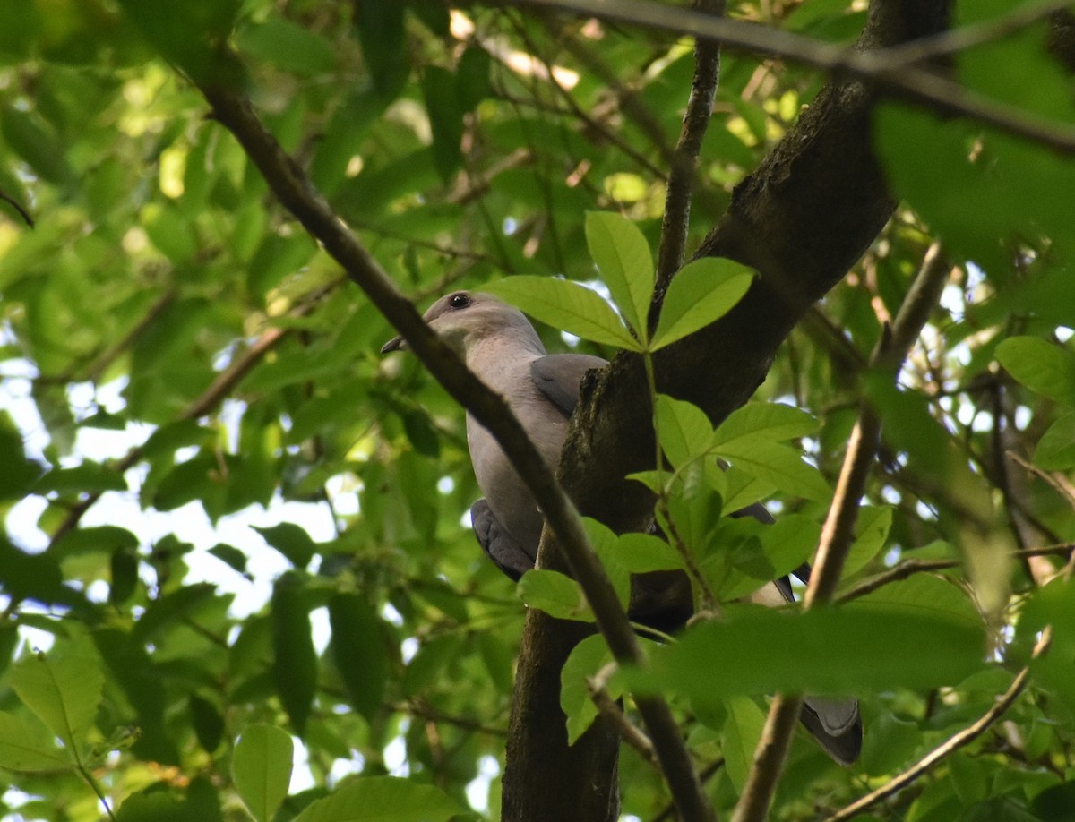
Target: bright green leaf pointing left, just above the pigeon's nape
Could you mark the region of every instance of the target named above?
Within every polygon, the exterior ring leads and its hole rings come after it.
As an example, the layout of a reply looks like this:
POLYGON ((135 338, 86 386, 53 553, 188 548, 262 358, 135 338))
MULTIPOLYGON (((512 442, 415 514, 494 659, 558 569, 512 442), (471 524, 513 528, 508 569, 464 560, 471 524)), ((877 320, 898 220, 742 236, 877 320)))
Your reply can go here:
POLYGON ((597 291, 553 277, 519 275, 485 286, 547 326, 629 351, 642 347, 597 291))

